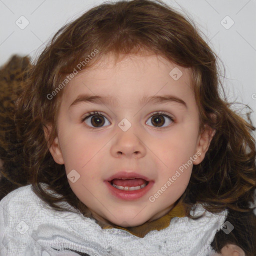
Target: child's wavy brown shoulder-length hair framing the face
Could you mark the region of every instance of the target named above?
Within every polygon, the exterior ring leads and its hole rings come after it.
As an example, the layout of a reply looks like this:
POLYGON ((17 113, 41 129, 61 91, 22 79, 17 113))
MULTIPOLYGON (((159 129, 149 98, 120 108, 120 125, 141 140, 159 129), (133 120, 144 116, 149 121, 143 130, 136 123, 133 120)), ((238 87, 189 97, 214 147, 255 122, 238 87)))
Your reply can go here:
MULTIPOLYGON (((160 0, 105 2, 91 8, 60 28, 29 67, 14 120, 17 140, 23 147, 20 164, 27 171, 33 191, 56 210, 63 210, 58 202, 67 201, 84 216, 91 216, 72 192, 64 165, 54 162, 48 150, 57 135, 56 117, 63 90, 51 99, 47 95, 95 49, 98 53, 82 69, 93 66, 107 53, 117 60, 145 52, 191 69, 200 120, 198 134, 207 126, 216 133, 203 161, 193 165, 189 184, 180 197, 186 215, 192 217, 190 210, 195 203, 202 203, 210 212, 229 209, 252 216, 256 152, 251 112, 246 121, 231 109, 232 103, 227 101, 220 80, 218 56, 203 40, 193 20, 160 0), (48 141, 43 132, 46 124, 52 125, 48 141), (42 183, 60 196, 46 191, 42 183)), ((256 241, 255 233, 251 235, 256 241)), ((227 242, 228 239, 224 244, 227 242)), ((219 252, 224 244, 215 242, 215 250, 219 252)), ((239 245, 239 239, 236 244, 239 245)), ((255 254, 254 245, 248 249, 244 246, 246 255, 255 254)))

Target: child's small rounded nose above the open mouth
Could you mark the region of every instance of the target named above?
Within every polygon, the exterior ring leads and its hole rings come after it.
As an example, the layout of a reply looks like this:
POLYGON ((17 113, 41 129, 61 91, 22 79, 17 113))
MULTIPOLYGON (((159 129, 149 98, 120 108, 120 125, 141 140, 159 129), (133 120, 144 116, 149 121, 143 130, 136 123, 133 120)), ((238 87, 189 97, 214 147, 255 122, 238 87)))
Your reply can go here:
POLYGON ((136 130, 137 132, 134 132, 133 125, 126 131, 117 127, 117 134, 113 138, 110 149, 112 156, 140 158, 145 155, 146 146, 145 141, 143 141, 144 137, 138 132, 138 129, 136 130))

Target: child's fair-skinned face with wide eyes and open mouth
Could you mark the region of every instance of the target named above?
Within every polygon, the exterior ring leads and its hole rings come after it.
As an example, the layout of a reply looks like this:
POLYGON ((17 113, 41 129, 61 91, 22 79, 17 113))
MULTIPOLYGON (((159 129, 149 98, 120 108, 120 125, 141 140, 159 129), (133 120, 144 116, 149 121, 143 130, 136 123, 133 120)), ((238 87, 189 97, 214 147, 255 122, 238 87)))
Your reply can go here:
POLYGON ((210 139, 205 132, 197 136, 199 116, 190 72, 178 66, 183 74, 174 80, 169 72, 175 66, 155 55, 129 56, 113 65, 109 55, 100 65, 75 75, 64 88, 58 135, 50 152, 67 174, 75 170, 71 175, 75 182, 68 179, 70 187, 96 218, 136 226, 161 217, 184 192, 193 164, 202 161, 210 139), (84 94, 111 101, 72 104, 84 94), (166 100, 140 103, 143 97, 163 95, 178 97, 186 106, 166 100), (91 111, 105 117, 81 121, 91 111), (155 111, 174 121, 154 115, 155 111), (136 172, 150 182, 127 195, 106 181, 119 171, 136 172))

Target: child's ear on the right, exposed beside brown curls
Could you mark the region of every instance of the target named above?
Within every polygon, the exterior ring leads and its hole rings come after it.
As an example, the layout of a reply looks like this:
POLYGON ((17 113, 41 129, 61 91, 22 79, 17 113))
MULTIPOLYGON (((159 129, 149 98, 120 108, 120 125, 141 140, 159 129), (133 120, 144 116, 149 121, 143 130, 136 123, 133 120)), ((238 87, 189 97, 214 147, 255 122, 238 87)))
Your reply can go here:
POLYGON ((199 164, 203 160, 209 148, 210 141, 214 136, 215 132, 216 132, 215 129, 204 124, 204 129, 197 139, 197 145, 196 145, 196 151, 195 151, 195 153, 197 151, 200 152, 200 155, 197 154, 198 157, 193 161, 193 164, 199 164))

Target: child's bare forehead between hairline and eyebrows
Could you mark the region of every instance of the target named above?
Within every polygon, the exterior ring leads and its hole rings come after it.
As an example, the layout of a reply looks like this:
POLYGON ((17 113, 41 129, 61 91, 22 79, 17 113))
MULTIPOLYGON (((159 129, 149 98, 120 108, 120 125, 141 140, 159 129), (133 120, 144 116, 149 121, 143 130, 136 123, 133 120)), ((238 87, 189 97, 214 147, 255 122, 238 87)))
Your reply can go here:
POLYGON ((63 99, 70 103, 81 93, 108 95, 118 106, 136 96, 140 97, 140 102, 146 96, 167 93, 187 98, 193 95, 190 84, 189 68, 159 55, 127 55, 116 61, 108 54, 76 74, 65 86, 63 99))

